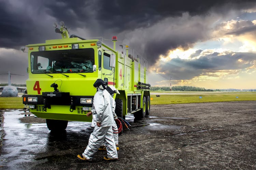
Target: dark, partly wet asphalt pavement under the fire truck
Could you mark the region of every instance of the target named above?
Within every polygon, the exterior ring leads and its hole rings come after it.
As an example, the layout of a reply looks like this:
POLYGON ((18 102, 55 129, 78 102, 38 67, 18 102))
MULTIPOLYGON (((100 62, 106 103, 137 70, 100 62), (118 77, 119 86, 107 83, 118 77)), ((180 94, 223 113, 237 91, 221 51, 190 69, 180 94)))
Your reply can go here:
POLYGON ((256 169, 256 101, 152 105, 146 118, 127 116, 116 161, 105 151, 91 162, 76 157, 88 122, 53 134, 29 112, 2 113, 0 169, 256 169))

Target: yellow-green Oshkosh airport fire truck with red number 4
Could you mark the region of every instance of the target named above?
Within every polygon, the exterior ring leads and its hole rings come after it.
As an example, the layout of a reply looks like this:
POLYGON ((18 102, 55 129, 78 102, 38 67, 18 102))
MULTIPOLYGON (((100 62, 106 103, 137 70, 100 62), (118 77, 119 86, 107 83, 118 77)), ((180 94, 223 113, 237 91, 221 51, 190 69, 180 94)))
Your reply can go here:
POLYGON ((62 39, 46 40, 28 47, 29 78, 23 103, 35 116, 46 119, 49 130, 65 130, 68 121, 91 121, 86 114, 92 109, 97 79, 115 86, 116 114, 143 118, 150 114, 150 84, 147 82, 147 61, 134 54, 127 45, 116 50, 99 39, 69 36, 60 23, 55 32, 62 39), (136 56, 136 57, 133 57, 136 56))

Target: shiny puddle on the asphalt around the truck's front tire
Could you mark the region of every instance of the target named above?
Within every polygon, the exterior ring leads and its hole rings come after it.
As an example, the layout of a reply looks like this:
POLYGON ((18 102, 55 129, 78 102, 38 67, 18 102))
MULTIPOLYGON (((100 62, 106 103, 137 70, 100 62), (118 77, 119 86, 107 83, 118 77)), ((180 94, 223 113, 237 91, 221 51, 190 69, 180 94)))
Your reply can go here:
MULTIPOLYGON (((36 154, 55 147, 51 142, 52 134, 46 123, 23 123, 19 120, 28 115, 29 112, 19 110, 4 112, 4 140, 0 160, 1 166, 7 169, 19 169, 18 164, 31 162, 36 154)), ((30 114, 31 116, 34 115, 30 114)), ((54 140, 61 143, 60 141, 63 140, 72 140, 73 136, 81 137, 85 134, 84 131, 88 131, 90 125, 90 122, 71 121, 68 123, 68 133, 64 134, 65 137, 62 135, 54 140)))

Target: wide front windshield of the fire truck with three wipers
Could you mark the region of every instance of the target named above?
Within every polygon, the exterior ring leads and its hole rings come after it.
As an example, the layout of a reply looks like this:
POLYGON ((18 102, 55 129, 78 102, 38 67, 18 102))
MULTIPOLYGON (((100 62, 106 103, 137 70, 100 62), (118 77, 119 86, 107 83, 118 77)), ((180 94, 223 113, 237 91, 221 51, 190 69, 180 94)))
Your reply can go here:
POLYGON ((31 52, 30 61, 34 74, 93 72, 94 49, 31 52))

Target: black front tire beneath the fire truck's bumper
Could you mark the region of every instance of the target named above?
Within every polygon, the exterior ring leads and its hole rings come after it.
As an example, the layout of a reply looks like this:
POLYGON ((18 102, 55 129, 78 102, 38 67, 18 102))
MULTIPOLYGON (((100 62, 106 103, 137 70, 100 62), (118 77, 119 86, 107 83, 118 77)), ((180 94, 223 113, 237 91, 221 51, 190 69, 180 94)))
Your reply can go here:
POLYGON ((67 120, 46 119, 47 128, 50 131, 64 131, 67 128, 67 120))

